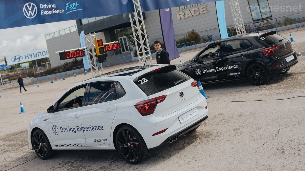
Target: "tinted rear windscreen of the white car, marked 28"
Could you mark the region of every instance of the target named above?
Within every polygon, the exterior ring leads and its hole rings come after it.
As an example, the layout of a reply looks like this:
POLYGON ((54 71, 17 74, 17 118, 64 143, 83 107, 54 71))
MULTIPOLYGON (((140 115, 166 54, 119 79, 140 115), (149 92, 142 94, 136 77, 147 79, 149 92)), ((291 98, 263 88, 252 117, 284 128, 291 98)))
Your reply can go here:
POLYGON ((158 71, 143 75, 135 83, 147 96, 150 96, 190 79, 174 67, 162 68, 158 71))

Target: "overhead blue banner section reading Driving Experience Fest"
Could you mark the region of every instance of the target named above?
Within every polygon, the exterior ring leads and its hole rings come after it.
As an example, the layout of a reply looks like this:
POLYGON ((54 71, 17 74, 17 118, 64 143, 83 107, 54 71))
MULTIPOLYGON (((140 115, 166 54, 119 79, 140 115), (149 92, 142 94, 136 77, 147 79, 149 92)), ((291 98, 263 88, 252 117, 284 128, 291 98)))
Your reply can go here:
POLYGON ((0 29, 130 12, 132 0, 0 0, 0 29))

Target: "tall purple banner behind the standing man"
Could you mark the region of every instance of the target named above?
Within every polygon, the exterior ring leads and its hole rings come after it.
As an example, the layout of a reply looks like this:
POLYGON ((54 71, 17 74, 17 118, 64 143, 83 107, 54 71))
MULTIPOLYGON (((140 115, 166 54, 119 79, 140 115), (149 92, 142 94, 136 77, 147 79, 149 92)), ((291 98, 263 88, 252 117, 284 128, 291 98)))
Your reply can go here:
POLYGON ((160 9, 160 20, 161 20, 164 44, 166 47, 166 51, 169 54, 170 60, 179 58, 180 55, 178 53, 176 40, 175 40, 175 32, 174 32, 173 18, 171 15, 171 9, 160 9))

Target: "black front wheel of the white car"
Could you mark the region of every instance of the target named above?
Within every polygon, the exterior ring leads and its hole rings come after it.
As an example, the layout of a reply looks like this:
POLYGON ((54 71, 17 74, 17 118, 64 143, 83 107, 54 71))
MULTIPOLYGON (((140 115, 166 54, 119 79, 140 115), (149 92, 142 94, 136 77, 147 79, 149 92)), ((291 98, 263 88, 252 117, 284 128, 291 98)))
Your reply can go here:
POLYGON ((55 151, 52 150, 51 144, 45 135, 45 133, 38 129, 32 135, 32 144, 34 151, 40 159, 48 159, 55 154, 55 151))

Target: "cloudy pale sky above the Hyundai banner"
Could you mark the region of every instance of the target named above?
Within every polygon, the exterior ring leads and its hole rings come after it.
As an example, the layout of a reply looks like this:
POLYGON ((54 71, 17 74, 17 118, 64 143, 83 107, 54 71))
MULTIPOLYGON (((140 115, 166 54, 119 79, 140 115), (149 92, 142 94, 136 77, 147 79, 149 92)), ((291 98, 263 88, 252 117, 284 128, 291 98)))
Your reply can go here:
POLYGON ((45 34, 75 26, 75 20, 0 30, 0 60, 7 55, 47 48, 45 34))

